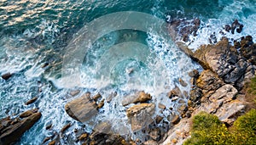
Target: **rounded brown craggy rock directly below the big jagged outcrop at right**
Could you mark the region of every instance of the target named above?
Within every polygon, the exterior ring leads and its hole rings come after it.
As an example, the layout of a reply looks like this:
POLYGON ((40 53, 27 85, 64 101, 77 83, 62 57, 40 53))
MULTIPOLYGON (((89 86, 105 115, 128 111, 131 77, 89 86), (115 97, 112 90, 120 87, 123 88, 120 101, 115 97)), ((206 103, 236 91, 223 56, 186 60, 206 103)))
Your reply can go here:
POLYGON ((204 94, 210 91, 215 92, 223 85, 224 82, 211 70, 203 70, 199 78, 196 80, 196 86, 200 87, 204 94))

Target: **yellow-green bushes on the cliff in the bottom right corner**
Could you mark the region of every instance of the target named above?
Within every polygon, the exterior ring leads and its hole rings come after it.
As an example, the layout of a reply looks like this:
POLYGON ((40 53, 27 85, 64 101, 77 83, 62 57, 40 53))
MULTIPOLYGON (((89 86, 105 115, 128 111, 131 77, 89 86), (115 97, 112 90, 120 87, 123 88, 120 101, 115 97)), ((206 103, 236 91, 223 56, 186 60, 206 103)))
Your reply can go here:
POLYGON ((201 112, 193 118, 190 144, 256 144, 256 110, 240 116, 230 129, 218 117, 201 112))

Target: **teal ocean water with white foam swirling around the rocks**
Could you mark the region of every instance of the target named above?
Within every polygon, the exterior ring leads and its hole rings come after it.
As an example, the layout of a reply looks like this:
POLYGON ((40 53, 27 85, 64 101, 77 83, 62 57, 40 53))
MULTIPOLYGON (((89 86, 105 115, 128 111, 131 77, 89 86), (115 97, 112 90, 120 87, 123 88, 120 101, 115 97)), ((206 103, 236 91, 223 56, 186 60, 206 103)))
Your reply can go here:
MULTIPOLYGON (((0 79, 0 118, 33 108, 43 114, 17 144, 40 144, 67 122, 73 123, 67 135, 83 125, 84 130, 91 131, 93 125, 79 123, 65 112, 64 105, 73 99, 68 92, 76 89, 81 90, 79 95, 100 92, 103 98, 116 92, 116 98, 105 103, 96 121, 112 121, 118 133, 134 139, 137 136, 125 116, 125 109, 131 105, 121 105, 126 95, 142 90, 150 93, 153 103, 172 108, 161 114, 156 110, 154 115, 162 115, 164 120, 168 114, 177 113, 182 104, 179 100, 172 102, 166 93, 175 86, 189 92, 190 86, 181 86, 178 79, 189 84, 188 72, 201 70, 201 66, 182 53, 168 36, 164 26, 169 14, 176 19, 201 19, 197 36, 189 36, 187 42, 193 50, 208 44, 213 32, 219 40, 223 36, 219 31, 235 19, 244 25, 243 31, 234 35, 224 32, 224 36, 231 42, 251 35, 255 42, 255 0, 2 0, 0 74, 15 75, 8 81, 0 79), (90 42, 92 38, 96 40, 90 42), (45 63, 49 65, 42 68, 45 63), (71 75, 63 75, 66 70, 71 75), (63 76, 67 76, 64 81, 63 76), (35 96, 36 103, 24 105, 35 96), (46 131, 49 123, 53 129, 46 131), (122 128, 127 131, 119 132, 122 128)), ((184 102, 187 100, 188 97, 183 98, 184 102)), ((143 136, 139 138, 143 140, 143 136)), ((67 144, 69 139, 64 137, 61 143, 67 144)))

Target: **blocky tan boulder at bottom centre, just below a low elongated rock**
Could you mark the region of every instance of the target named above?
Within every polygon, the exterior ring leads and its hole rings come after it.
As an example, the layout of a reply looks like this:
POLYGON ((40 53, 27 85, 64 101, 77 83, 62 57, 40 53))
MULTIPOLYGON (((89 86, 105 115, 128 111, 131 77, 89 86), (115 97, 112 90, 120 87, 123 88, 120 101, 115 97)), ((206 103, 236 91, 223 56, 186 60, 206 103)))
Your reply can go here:
POLYGON ((154 103, 141 103, 126 110, 128 121, 131 124, 131 130, 137 131, 149 125, 154 120, 152 115, 155 111, 154 103))

